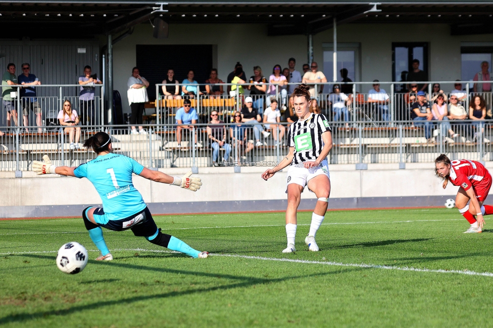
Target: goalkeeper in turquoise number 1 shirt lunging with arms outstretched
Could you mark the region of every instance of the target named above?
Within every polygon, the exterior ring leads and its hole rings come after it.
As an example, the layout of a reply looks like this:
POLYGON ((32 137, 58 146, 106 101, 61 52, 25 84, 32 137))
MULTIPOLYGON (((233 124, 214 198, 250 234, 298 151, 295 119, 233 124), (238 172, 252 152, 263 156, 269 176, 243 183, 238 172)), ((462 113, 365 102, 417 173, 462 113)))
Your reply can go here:
POLYGON ((82 218, 91 240, 101 251, 96 260, 113 259, 103 238, 105 227, 114 231, 130 229, 135 236, 144 237, 151 243, 185 253, 194 258, 206 258, 208 252, 201 252, 188 246, 183 241, 161 233, 153 216, 144 203, 142 196, 132 183, 135 173, 145 179, 167 183, 196 191, 202 186, 200 178, 191 178, 191 172, 182 178, 171 177, 159 171, 144 168, 134 159, 114 154, 111 137, 105 132, 98 132, 84 142, 84 147, 92 149, 97 157, 76 168, 56 167, 47 155, 43 161, 33 161, 32 170, 40 174, 60 174, 76 178, 87 178, 96 188, 103 201, 103 207, 87 207, 82 211, 82 218))

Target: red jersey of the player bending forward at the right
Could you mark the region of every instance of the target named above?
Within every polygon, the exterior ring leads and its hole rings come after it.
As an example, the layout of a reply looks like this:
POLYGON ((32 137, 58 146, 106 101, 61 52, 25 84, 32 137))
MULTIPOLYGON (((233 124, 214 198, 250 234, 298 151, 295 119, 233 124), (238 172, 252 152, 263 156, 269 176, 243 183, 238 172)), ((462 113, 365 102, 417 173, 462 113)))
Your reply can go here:
MULTIPOLYGON (((454 186, 460 186, 464 190, 474 187, 474 190, 485 189, 491 185, 491 175, 488 170, 475 160, 456 159, 450 163, 449 181, 454 186)), ((489 191, 489 188, 487 188, 489 191)), ((486 195, 477 195, 485 197, 486 195)))

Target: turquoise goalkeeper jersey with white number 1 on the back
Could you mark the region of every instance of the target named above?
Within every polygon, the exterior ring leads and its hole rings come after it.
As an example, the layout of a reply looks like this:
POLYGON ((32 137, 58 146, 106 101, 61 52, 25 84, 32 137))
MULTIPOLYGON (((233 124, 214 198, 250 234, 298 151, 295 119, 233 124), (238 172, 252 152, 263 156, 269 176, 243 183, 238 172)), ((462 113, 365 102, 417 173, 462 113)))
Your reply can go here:
POLYGON ((130 157, 109 153, 78 166, 74 175, 86 177, 94 185, 109 220, 120 220, 146 207, 132 183, 132 173, 140 174, 143 169, 130 157))

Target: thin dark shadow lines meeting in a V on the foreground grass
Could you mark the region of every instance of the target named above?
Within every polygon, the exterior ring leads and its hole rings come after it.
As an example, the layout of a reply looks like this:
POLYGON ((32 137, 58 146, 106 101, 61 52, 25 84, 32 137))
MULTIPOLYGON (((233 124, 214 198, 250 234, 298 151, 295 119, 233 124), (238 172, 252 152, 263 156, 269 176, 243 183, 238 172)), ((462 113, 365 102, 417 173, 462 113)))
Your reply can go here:
MULTIPOLYGON (((52 259, 51 257, 48 257, 48 256, 46 256, 46 258, 52 259)), ((98 302, 94 302, 91 304, 73 306, 73 307, 70 307, 67 309, 57 309, 57 310, 51 310, 51 311, 39 311, 39 312, 31 312, 31 313, 11 314, 11 315, 7 315, 7 316, 0 318, 0 325, 5 324, 5 323, 11 323, 11 322, 26 322, 29 320, 37 320, 37 319, 44 318, 44 317, 51 316, 51 315, 57 315, 57 316, 69 315, 69 314, 72 314, 75 312, 80 312, 80 311, 85 311, 85 310, 101 309, 102 307, 105 307, 105 306, 130 304, 130 303, 134 303, 134 302, 140 302, 140 301, 146 301, 146 300, 152 300, 152 299, 170 298, 170 297, 178 297, 178 296, 184 296, 184 295, 207 293, 207 292, 213 292, 213 291, 219 291, 219 290, 251 287, 251 286, 255 286, 255 285, 280 283, 280 282, 284 282, 284 281, 292 281, 292 280, 297 280, 297 279, 306 279, 306 278, 313 278, 313 277, 319 278, 322 276, 340 275, 342 273, 361 271, 361 270, 368 269, 368 268, 361 268, 361 267, 344 268, 344 269, 337 268, 337 269, 329 271, 329 272, 317 272, 317 273, 313 273, 313 274, 309 274, 309 275, 303 275, 303 276, 286 276, 286 277, 282 277, 282 278, 268 279, 268 278, 256 278, 256 277, 246 277, 246 276, 234 276, 234 275, 227 275, 227 274, 225 275, 225 274, 217 274, 217 273, 177 270, 177 269, 162 268, 162 267, 158 268, 158 267, 150 267, 150 266, 143 266, 143 265, 118 263, 118 261, 111 261, 111 262, 110 261, 106 261, 106 262, 90 261, 90 262, 94 263, 94 264, 99 264, 99 265, 108 265, 108 266, 121 267, 121 268, 126 268, 126 269, 138 269, 138 270, 166 272, 168 274, 199 276, 199 277, 208 277, 208 278, 215 278, 215 279, 229 279, 229 280, 233 280, 236 282, 231 283, 231 284, 227 284, 227 285, 223 285, 223 286, 213 286, 213 287, 208 287, 208 288, 198 288, 198 289, 190 289, 190 290, 184 290, 184 291, 173 291, 173 292, 156 294, 156 295, 134 296, 134 297, 122 298, 122 299, 110 300, 110 301, 98 301, 98 302)), ((94 283, 94 282, 107 282, 107 281, 106 280, 89 281, 87 283, 94 283)), ((222 282, 222 280, 219 280, 219 282, 222 282)), ((25 324, 27 325, 28 323, 26 322, 25 324)))

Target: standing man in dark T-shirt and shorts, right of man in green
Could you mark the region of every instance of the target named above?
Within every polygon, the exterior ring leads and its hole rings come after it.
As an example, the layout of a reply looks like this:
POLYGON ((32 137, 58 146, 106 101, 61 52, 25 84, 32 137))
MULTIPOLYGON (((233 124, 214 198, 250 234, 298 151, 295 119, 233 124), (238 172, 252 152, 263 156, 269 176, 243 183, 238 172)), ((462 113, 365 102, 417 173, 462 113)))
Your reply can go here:
POLYGON ((29 125, 28 114, 33 111, 36 114, 36 125, 39 127, 38 132, 41 132, 41 107, 36 98, 36 89, 30 85, 40 85, 41 82, 34 74, 30 74, 31 65, 29 63, 22 64, 22 74, 17 77, 19 84, 29 85, 21 88, 22 112, 24 126, 29 125))

